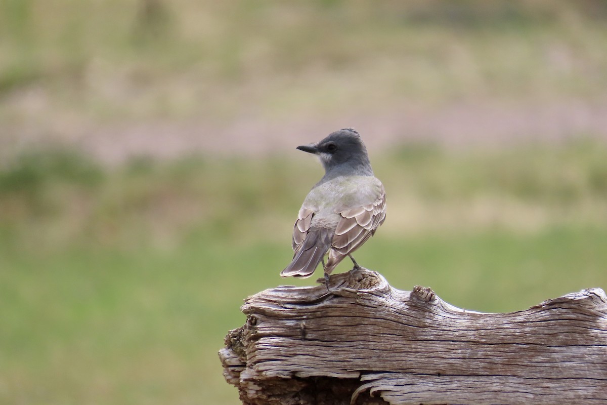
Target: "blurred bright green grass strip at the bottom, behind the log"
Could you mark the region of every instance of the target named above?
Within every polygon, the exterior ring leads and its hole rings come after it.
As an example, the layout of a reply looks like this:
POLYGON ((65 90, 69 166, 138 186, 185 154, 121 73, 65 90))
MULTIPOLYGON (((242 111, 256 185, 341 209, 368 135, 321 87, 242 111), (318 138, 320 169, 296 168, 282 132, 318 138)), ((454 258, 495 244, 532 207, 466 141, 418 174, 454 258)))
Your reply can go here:
MULTIPOLYGON (((358 259, 396 287, 430 285, 461 307, 504 311, 605 287, 606 242, 605 230, 571 229, 378 237, 358 259)), ((216 352, 244 322, 242 299, 282 284, 277 273, 287 260, 284 245, 263 241, 15 260, 2 277, 0 399, 236 403, 216 352)))

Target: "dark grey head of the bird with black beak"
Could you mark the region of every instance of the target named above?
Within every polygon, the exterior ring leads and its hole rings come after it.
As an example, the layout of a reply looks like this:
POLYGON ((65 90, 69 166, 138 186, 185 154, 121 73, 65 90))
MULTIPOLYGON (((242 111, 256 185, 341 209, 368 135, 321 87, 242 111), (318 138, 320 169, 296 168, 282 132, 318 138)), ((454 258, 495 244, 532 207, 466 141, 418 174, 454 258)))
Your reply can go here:
POLYGON ((361 135, 351 128, 340 129, 322 141, 297 146, 300 151, 318 155, 325 168, 325 177, 357 174, 373 175, 367 148, 361 135))

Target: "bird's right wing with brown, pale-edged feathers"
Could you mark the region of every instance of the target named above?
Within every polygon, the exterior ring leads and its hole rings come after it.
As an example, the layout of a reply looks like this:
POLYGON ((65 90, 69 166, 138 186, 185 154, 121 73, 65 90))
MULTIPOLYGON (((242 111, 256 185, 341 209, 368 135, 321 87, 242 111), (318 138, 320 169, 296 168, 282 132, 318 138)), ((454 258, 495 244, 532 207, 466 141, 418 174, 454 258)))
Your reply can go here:
MULTIPOLYGON (((385 220, 385 192, 382 192, 375 201, 356 208, 345 209, 337 223, 335 235, 331 242, 333 250, 347 255, 365 243, 375 234, 375 230, 385 220)), ((331 260, 331 257, 329 258, 331 260)), ((329 263, 327 263, 329 267, 329 263)))

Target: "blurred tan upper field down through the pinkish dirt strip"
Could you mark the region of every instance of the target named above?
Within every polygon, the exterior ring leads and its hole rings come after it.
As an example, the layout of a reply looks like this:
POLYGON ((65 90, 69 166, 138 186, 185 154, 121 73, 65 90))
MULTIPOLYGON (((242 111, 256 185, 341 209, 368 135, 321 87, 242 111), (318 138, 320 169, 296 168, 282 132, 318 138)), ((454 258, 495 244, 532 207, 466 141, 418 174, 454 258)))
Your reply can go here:
POLYGON ((606 19, 602 0, 6 0, 0 158, 50 141, 106 162, 276 152, 342 126, 600 136, 606 19))

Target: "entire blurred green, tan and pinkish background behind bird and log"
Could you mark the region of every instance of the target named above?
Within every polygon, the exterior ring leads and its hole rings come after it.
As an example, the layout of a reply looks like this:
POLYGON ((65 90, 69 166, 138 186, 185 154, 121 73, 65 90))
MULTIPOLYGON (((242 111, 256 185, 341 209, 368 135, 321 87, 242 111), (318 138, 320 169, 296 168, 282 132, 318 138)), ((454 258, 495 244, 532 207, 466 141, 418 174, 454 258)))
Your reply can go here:
MULTIPOLYGON (((0 3, 0 403, 237 404, 217 350, 279 284, 354 126, 356 258, 514 311, 607 286, 603 1, 0 3)), ((348 270, 347 260, 337 271, 348 270)), ((317 274, 320 276, 320 273, 317 274)))

